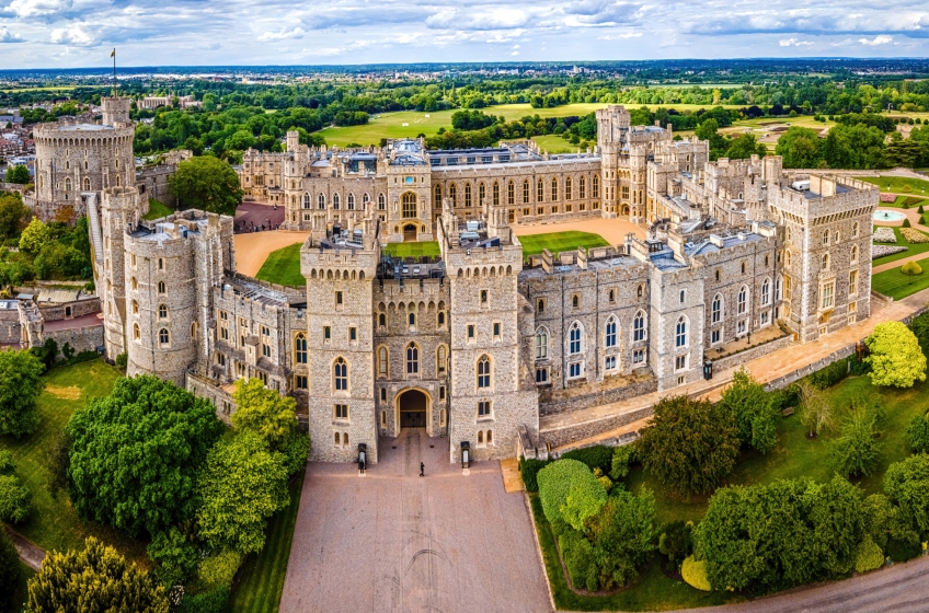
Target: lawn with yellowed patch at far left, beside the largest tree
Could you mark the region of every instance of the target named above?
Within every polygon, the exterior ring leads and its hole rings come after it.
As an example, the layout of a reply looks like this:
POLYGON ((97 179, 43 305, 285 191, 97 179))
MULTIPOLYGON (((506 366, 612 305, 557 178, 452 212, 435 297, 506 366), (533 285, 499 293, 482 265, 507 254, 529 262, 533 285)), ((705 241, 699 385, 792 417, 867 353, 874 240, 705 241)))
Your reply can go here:
POLYGON ((145 543, 116 530, 80 520, 67 494, 53 495, 46 467, 49 451, 71 414, 89 397, 107 395, 122 372, 103 360, 59 367, 45 377, 46 389, 38 398, 38 429, 20 440, 0 437, 0 449, 13 452, 16 474, 32 490, 32 513, 13 528, 44 550, 83 547, 87 536, 115 546, 127 558, 150 566, 145 543))

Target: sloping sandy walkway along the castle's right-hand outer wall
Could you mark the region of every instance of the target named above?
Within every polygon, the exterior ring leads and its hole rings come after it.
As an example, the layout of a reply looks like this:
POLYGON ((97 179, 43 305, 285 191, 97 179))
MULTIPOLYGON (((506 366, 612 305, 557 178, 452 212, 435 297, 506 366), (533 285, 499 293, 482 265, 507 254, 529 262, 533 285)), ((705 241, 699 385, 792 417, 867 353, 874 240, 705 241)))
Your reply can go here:
MULTIPOLYGON (((901 321, 922 310, 929 302, 929 289, 919 291, 895 302, 884 302, 871 299, 871 316, 825 336, 814 343, 793 344, 767 356, 746 362, 745 368, 761 383, 770 383, 792 373, 808 369, 812 365, 828 358, 867 338, 878 324, 888 321, 901 321)), ((576 431, 580 436, 567 444, 554 448, 554 451, 566 450, 598 441, 616 438, 645 426, 647 414, 661 398, 670 395, 687 394, 688 396, 704 397, 718 401, 723 389, 732 381, 737 369, 729 369, 713 373, 710 381, 700 380, 687 385, 663 392, 653 392, 627 401, 595 406, 559 415, 547 415, 539 418, 540 439, 564 439, 565 432, 576 431), (636 415, 638 414, 638 415, 636 415), (598 423, 613 421, 622 415, 630 415, 627 424, 608 428, 601 432, 587 433, 596 430, 598 423), (548 436, 547 436, 548 435, 548 436), (560 436, 559 436, 560 435, 560 436)), ((605 424, 606 425, 606 424, 605 424)))

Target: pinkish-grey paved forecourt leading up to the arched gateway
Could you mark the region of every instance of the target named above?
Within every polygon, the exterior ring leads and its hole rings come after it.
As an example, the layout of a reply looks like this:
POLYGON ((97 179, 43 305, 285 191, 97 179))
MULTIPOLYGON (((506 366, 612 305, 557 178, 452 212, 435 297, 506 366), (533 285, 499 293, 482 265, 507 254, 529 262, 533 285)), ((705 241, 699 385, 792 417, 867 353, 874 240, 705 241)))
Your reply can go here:
POLYGON ((551 611, 529 510, 500 462, 462 475, 447 439, 418 428, 381 439, 379 456, 365 477, 309 465, 280 613, 551 611))

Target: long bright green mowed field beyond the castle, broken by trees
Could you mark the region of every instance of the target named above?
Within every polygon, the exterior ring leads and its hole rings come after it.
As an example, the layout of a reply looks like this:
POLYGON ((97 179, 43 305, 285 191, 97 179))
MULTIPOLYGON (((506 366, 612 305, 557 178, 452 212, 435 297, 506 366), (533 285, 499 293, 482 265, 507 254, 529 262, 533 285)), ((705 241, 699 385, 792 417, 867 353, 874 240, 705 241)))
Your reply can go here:
MULTIPOLYGON (((580 103, 565 104, 554 108, 532 108, 527 104, 502 104, 500 106, 489 106, 482 108, 488 115, 503 115, 507 122, 520 119, 527 115, 539 117, 570 117, 576 115, 582 117, 608 106, 606 103, 580 103)), ((678 111, 696 111, 698 108, 712 108, 711 104, 627 104, 628 108, 639 108, 647 106, 655 109, 676 108, 678 111)), ((732 106, 732 108, 738 108, 732 106)), ((364 126, 344 126, 329 127, 320 130, 320 134, 325 138, 326 143, 344 147, 349 143, 358 144, 378 144, 382 138, 415 138, 420 134, 433 136, 438 132, 438 129, 444 127, 451 128, 451 116, 459 108, 449 111, 436 111, 425 113, 422 111, 400 111, 397 113, 381 113, 380 115, 371 116, 371 119, 364 126), (428 117, 427 117, 428 115, 428 117), (403 124, 406 124, 405 126, 403 124)), ((566 142, 566 141, 565 141, 566 142)))

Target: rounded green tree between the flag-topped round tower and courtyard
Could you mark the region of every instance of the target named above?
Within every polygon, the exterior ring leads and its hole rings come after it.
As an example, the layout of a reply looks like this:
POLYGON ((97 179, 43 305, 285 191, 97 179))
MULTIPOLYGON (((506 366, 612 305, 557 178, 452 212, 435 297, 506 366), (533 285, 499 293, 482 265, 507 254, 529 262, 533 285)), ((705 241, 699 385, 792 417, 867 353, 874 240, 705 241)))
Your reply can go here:
POLYGON ((234 215, 244 195, 232 166, 213 155, 198 155, 177 164, 177 172, 169 180, 169 188, 177 198, 179 209, 195 208, 222 215, 234 215))

